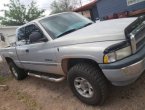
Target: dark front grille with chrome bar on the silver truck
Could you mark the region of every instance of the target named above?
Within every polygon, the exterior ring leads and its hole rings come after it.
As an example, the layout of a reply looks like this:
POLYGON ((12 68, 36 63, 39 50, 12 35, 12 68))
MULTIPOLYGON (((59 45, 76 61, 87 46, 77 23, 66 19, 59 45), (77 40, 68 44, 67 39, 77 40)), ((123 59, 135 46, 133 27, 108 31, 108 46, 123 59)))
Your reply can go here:
POLYGON ((136 53, 145 45, 145 15, 138 17, 125 28, 126 39, 130 42, 132 53, 136 53))

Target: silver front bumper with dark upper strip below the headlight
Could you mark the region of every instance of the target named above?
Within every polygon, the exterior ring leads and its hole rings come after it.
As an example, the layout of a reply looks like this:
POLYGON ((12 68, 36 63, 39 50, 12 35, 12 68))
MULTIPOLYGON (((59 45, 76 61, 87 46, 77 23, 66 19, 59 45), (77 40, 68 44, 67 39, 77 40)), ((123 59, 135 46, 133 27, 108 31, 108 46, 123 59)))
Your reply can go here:
POLYGON ((116 86, 133 83, 145 70, 145 48, 136 54, 111 64, 100 64, 106 78, 116 86))

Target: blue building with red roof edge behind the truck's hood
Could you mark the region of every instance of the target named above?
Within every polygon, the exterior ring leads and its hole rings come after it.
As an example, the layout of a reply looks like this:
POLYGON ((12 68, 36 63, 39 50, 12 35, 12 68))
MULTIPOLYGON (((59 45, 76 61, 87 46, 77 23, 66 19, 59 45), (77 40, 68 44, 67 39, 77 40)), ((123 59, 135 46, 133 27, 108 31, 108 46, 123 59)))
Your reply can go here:
MULTIPOLYGON (((121 17, 132 17, 145 14, 145 0, 94 0, 75 12, 90 13, 92 20, 96 19, 113 19, 121 17)), ((88 17, 88 16, 86 16, 88 17)))

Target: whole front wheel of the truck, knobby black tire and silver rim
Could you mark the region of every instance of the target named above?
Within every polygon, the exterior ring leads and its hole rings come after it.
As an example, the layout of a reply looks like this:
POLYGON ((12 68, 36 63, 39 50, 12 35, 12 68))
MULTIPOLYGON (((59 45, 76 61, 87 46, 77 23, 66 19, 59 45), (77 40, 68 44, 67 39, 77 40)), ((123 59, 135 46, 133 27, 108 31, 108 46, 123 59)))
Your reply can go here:
POLYGON ((73 66, 68 73, 68 83, 73 93, 89 105, 102 104, 108 94, 107 80, 94 65, 82 63, 73 66))

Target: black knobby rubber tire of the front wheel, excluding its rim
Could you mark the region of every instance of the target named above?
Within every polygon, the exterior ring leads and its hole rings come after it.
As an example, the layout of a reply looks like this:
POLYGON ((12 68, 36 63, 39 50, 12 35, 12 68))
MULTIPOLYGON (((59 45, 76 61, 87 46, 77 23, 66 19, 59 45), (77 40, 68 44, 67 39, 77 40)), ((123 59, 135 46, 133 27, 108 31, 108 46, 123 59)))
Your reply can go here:
POLYGON ((102 105, 108 94, 108 82, 102 71, 95 65, 80 63, 73 66, 68 72, 68 83, 74 95, 82 102, 89 105, 102 105), (85 78, 93 87, 94 94, 91 98, 80 95, 74 85, 76 77, 85 78))

